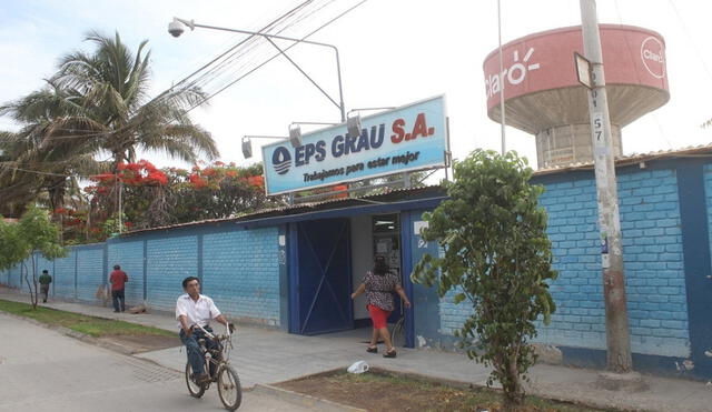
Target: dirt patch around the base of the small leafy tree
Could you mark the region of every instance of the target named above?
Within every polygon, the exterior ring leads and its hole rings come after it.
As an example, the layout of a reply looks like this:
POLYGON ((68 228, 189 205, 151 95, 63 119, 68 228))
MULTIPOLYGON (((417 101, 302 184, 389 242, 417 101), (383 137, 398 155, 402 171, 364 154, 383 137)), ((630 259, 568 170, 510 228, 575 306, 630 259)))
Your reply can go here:
MULTIPOLYGON (((453 388, 390 373, 337 372, 288 381, 277 386, 373 412, 386 411, 503 411, 500 393, 487 389, 453 388)), ((601 411, 582 405, 527 396, 521 412, 601 411)))

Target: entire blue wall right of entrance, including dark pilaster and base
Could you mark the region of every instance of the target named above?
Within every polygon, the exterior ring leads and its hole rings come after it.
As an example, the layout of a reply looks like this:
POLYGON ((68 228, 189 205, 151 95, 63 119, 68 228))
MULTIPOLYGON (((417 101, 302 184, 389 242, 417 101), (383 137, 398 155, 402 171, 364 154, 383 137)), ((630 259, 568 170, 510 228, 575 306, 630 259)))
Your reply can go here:
MULTIPOLYGON (((709 343, 712 326, 709 316, 704 318, 706 323, 702 322, 700 312, 710 313, 705 304, 712 303, 705 302, 712 301, 712 291, 705 295, 702 285, 691 289, 690 282, 693 277, 700 278, 698 273, 710 271, 712 164, 704 167, 705 193, 700 202, 690 191, 702 191, 702 185, 694 185, 695 179, 702 180, 702 167, 688 170, 688 160, 653 163, 649 162, 646 169, 620 168, 617 175, 634 363, 641 370, 673 372, 675 361, 691 359, 694 373, 709 376, 712 362, 701 353, 705 341, 708 350, 712 349, 709 343), (703 213, 704 219, 695 213, 703 213), (706 255, 689 245, 702 239, 706 255), (703 268, 693 268, 699 260, 704 261, 703 268), (694 329, 693 315, 701 318, 694 329)), ((605 350, 605 311, 593 172, 535 177, 534 183, 545 187, 540 203, 548 214, 547 233, 554 269, 558 271, 558 279, 551 284, 557 310, 548 326, 540 323, 535 342, 562 348, 564 358, 571 353, 595 358, 596 362, 589 364, 601 365, 597 361, 605 362, 605 356, 601 356, 605 350)), ((413 214, 411 219, 421 218, 413 214)), ((438 252, 432 245, 418 245, 416 235, 412 242, 414 263, 423 251, 438 252)), ((712 285, 704 288, 712 289, 712 285)), ((451 346, 455 341, 453 332, 473 313, 472 308, 467 302, 455 304, 452 300, 455 291, 437 302, 433 292, 434 289, 414 288, 414 300, 425 305, 423 310, 416 309, 415 332, 424 334, 416 345, 451 346), (418 324, 417 313, 428 319, 428 326, 418 324)))

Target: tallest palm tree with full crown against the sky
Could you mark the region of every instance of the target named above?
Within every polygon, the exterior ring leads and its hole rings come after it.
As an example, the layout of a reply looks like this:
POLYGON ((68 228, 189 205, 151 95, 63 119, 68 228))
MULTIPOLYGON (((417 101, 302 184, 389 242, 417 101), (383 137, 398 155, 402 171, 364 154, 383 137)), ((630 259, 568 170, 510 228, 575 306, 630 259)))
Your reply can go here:
POLYGON ((99 137, 113 167, 136 161, 137 149, 162 151, 195 163, 202 154, 218 155, 210 133, 191 122, 186 111, 202 102, 198 88, 168 90, 148 100, 150 51, 147 41, 136 56, 121 42, 96 31, 86 37, 97 46, 92 53, 76 51, 60 60, 53 77, 61 89, 81 98, 83 113, 56 124, 66 132, 81 130, 99 137))

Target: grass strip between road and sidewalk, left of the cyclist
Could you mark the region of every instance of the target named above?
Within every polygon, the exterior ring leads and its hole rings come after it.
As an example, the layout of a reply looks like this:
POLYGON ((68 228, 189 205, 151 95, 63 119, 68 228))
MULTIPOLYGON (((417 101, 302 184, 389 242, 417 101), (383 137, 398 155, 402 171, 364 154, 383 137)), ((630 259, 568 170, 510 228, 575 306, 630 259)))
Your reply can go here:
POLYGON ((0 299, 0 311, 33 319, 38 322, 65 326, 95 338, 116 335, 159 335, 176 336, 175 332, 136 323, 88 316, 85 314, 58 311, 43 307, 32 309, 31 304, 0 299))

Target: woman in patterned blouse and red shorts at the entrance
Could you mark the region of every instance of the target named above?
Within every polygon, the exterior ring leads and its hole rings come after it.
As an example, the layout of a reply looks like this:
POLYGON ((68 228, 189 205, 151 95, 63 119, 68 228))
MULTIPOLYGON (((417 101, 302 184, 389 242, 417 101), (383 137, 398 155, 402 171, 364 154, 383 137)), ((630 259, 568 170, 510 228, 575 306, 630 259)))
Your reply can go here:
POLYGON ((366 349, 366 352, 378 352, 376 344, 380 335, 386 343, 386 353, 384 353, 383 356, 395 358, 396 350, 393 348, 390 333, 388 333, 388 316, 394 309, 393 292, 398 293, 406 308, 411 308, 411 301, 405 295, 405 291, 400 285, 400 279, 390 272, 390 268, 388 268, 388 263, 386 263, 386 258, 378 254, 374 261, 374 270, 366 272, 364 282, 356 289, 356 292, 352 293, 352 300, 366 292, 366 309, 368 309, 368 314, 374 323, 370 344, 366 349))

